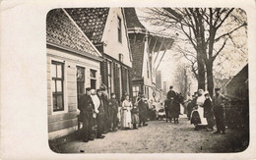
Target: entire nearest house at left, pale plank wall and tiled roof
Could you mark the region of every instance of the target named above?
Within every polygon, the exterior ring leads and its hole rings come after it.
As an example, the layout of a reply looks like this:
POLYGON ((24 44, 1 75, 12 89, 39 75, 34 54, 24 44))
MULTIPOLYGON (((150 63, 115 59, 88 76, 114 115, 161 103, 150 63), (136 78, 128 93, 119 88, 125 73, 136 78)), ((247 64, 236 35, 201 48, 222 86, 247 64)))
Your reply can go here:
POLYGON ((48 138, 77 130, 79 97, 100 85, 102 55, 64 9, 46 18, 48 138))

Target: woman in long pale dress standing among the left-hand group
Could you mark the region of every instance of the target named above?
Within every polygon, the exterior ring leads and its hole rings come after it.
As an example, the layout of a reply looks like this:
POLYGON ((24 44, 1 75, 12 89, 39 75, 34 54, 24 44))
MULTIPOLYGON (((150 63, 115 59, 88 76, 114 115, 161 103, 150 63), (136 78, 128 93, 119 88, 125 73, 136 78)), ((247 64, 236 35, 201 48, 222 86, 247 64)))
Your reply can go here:
POLYGON ((129 100, 129 95, 125 96, 125 100, 122 103, 122 129, 131 129, 132 126, 132 102, 129 100))

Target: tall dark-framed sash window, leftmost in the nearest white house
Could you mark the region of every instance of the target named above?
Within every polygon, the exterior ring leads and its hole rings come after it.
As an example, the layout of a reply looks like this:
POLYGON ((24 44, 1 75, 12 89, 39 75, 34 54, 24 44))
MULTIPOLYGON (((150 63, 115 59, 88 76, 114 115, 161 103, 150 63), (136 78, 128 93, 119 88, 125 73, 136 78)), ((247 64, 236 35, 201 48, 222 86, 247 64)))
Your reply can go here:
POLYGON ((51 90, 53 100, 53 112, 64 111, 64 94, 63 94, 63 63, 51 62, 51 90))

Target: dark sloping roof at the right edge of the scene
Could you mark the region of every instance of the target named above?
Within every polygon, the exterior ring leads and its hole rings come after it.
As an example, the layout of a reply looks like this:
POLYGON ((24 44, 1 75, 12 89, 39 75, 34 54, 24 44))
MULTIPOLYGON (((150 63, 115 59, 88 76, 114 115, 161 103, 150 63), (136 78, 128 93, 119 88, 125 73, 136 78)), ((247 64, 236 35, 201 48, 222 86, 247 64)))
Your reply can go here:
POLYGON ((245 84, 246 80, 248 80, 248 64, 243 67, 243 69, 236 74, 227 84, 232 86, 232 85, 237 85, 237 84, 245 84))

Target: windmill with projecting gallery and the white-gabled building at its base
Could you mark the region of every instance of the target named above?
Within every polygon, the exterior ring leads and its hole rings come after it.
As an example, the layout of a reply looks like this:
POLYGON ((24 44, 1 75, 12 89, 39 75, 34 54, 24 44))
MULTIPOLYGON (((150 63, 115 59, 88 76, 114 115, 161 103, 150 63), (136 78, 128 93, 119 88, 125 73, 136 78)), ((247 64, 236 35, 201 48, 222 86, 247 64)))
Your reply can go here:
POLYGON ((154 100, 157 93, 156 71, 166 50, 171 48, 174 40, 149 31, 138 20, 134 8, 124 8, 124 12, 133 56, 131 74, 133 97, 141 92, 148 99, 154 100), (158 58, 160 58, 159 62, 158 58))

